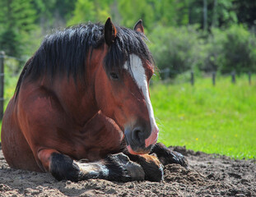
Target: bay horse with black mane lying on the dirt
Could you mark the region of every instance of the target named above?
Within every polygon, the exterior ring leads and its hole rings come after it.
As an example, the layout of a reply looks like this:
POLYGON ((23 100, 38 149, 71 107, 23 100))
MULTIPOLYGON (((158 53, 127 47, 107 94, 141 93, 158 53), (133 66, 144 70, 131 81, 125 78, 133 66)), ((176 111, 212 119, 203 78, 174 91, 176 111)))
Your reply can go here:
POLYGON ((131 30, 110 18, 47 35, 2 119, 8 165, 58 181, 161 181, 163 165, 186 167, 182 154, 156 144, 146 42, 142 21, 131 30))

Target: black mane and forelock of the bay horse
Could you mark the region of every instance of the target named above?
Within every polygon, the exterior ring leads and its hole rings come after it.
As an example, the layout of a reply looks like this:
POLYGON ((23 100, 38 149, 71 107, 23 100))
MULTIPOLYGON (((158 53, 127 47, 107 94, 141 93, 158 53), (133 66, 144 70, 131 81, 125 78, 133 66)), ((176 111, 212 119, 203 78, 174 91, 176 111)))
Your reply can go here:
MULTIPOLYGON (((144 34, 124 27, 115 27, 117 37, 105 56, 106 72, 112 68, 122 68, 132 53, 153 63, 151 53, 144 42, 144 39, 147 39, 144 34)), ((104 25, 101 24, 72 26, 47 35, 21 71, 16 85, 16 96, 19 94, 22 81, 26 78, 38 80, 46 75, 53 79, 58 73, 72 76, 74 80, 77 80, 77 77, 83 79, 88 67, 86 58, 91 56, 93 49, 99 48, 104 42, 104 25)))

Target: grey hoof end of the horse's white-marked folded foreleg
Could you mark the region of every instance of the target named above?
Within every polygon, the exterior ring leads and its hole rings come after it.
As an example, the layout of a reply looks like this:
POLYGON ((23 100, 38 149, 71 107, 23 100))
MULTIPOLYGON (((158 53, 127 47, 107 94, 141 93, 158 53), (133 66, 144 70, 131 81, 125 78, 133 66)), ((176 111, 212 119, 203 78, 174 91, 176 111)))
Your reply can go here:
POLYGON ((143 181, 145 179, 142 167, 131 161, 127 155, 123 153, 109 154, 107 160, 114 164, 114 168, 118 167, 121 171, 120 181, 143 181))

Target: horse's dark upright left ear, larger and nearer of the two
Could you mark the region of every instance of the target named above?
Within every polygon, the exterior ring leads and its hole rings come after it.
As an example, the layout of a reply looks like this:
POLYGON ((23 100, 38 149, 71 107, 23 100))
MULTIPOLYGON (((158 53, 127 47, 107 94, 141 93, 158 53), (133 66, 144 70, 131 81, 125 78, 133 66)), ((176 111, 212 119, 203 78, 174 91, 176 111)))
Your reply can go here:
POLYGON ((105 38, 105 43, 108 44, 109 46, 114 43, 114 39, 116 38, 116 29, 110 17, 105 22, 104 38, 105 38))

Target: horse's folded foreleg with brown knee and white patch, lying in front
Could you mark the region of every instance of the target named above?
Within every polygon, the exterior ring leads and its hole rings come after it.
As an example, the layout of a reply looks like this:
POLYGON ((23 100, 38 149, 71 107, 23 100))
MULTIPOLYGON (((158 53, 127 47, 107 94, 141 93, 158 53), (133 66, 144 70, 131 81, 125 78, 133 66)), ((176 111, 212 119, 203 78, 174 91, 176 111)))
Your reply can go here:
POLYGON ((142 181, 145 173, 140 165, 123 153, 109 154, 95 163, 79 163, 54 149, 42 149, 38 153, 45 171, 58 181, 81 181, 100 178, 109 181, 142 181))

